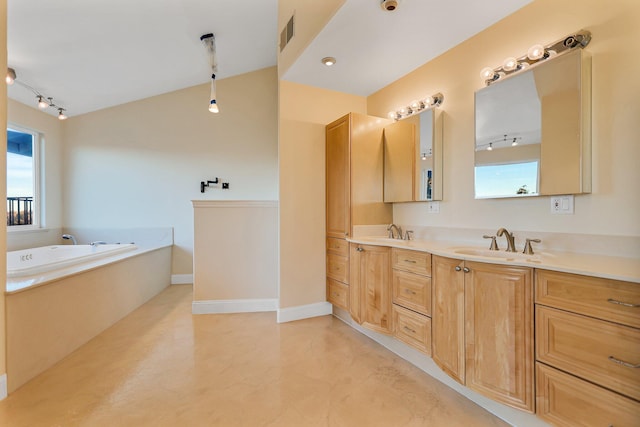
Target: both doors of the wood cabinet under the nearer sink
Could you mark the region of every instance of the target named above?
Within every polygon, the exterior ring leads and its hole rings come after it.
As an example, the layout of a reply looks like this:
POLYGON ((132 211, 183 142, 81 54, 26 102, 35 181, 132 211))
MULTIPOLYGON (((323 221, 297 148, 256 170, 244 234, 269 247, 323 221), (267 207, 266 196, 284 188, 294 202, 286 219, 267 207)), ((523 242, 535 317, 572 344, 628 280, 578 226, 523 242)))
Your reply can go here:
POLYGON ((533 412, 533 339, 533 269, 433 257, 433 359, 451 377, 533 412))

